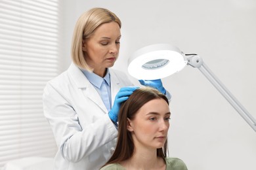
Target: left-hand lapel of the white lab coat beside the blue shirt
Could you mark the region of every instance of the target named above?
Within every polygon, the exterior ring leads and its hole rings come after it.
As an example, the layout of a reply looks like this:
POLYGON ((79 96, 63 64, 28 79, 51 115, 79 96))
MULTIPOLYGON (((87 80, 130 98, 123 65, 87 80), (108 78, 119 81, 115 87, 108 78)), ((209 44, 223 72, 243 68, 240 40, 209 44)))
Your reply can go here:
POLYGON ((89 80, 86 78, 86 76, 83 75, 83 72, 78 67, 76 67, 74 63, 70 65, 68 71, 70 73, 70 76, 72 76, 75 85, 77 86, 77 88, 82 90, 82 92, 85 94, 85 97, 91 99, 91 101, 98 105, 100 109, 108 113, 108 110, 106 109, 106 106, 100 98, 100 95, 95 90, 95 87, 91 84, 91 82, 89 82, 89 80))

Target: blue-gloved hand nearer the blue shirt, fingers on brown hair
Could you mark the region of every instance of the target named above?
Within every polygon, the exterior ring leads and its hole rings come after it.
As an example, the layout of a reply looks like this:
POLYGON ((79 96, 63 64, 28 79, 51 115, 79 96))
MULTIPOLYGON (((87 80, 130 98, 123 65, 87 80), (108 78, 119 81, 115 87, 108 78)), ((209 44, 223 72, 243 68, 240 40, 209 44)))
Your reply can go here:
POLYGON ((114 122, 117 122, 118 118, 118 112, 121 106, 121 103, 123 101, 126 101, 128 97, 139 87, 136 86, 129 86, 129 87, 123 87, 117 92, 114 105, 110 112, 108 112, 108 116, 110 116, 110 119, 114 122))

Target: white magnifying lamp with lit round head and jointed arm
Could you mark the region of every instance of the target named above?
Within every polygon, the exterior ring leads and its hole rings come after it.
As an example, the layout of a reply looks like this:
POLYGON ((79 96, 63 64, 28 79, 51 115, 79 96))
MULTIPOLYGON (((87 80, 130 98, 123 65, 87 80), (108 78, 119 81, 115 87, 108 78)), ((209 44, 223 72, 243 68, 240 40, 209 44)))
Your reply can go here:
POLYGON ((152 44, 140 48, 128 59, 128 73, 139 80, 155 80, 173 75, 173 73, 181 71, 186 65, 198 68, 244 118, 247 124, 256 131, 256 120, 253 116, 210 71, 203 59, 197 54, 183 54, 179 48, 170 44, 152 44))

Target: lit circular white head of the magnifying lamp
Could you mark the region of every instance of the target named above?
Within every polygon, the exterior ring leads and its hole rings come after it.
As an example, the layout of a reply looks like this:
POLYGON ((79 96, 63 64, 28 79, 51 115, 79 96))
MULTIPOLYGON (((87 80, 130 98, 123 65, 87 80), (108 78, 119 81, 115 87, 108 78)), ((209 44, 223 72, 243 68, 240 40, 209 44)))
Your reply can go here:
POLYGON ((181 71, 186 63, 179 48, 153 44, 140 48, 128 59, 128 73, 139 80, 156 80, 181 71))

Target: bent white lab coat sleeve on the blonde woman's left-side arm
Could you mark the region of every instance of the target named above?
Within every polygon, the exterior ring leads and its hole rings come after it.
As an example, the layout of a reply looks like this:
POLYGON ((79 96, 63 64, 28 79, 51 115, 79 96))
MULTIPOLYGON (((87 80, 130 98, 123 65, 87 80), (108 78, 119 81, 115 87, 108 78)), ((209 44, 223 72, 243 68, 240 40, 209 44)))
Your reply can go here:
MULTIPOLYGON (((108 114, 102 114, 95 122, 90 122, 82 128, 79 116, 69 100, 59 87, 51 83, 45 87, 43 110, 53 129, 58 149, 66 160, 77 162, 100 146, 116 139, 117 129, 108 114)), ((87 109, 91 114, 97 111, 87 109)))

